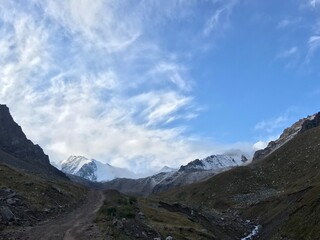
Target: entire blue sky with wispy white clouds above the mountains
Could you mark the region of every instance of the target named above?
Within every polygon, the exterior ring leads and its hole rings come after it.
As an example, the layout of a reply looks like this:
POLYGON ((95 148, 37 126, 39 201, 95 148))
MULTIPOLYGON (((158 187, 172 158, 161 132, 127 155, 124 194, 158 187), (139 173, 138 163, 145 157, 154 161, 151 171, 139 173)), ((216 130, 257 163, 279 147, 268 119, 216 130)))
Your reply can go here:
POLYGON ((319 0, 3 0, 0 103, 60 162, 252 152, 319 111, 319 0))

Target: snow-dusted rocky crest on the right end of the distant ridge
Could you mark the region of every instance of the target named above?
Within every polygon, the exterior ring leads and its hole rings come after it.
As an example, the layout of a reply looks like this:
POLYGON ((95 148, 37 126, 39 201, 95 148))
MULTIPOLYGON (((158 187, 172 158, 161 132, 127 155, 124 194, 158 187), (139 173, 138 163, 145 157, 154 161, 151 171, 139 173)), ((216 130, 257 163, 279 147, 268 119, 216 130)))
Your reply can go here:
POLYGON ((239 152, 212 155, 202 160, 196 159, 185 166, 181 166, 179 171, 221 170, 240 166, 247 162, 248 158, 248 156, 239 154, 239 152))

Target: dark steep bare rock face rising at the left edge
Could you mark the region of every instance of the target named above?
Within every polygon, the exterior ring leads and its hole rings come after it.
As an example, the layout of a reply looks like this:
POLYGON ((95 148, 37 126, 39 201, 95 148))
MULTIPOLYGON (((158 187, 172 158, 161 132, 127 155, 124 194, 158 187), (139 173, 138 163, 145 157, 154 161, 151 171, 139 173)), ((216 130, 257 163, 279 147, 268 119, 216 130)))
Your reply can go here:
POLYGON ((33 144, 13 120, 9 108, 0 104, 0 162, 44 177, 63 177, 64 173, 52 167, 49 157, 39 145, 33 144))

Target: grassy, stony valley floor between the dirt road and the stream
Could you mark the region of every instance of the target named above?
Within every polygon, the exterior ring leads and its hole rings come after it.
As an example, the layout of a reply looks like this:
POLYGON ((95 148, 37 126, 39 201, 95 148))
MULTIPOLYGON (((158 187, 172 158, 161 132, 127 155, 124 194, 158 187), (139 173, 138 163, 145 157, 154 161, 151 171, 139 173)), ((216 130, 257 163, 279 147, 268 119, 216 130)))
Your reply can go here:
POLYGON ((96 222, 104 239, 228 239, 244 237, 253 224, 231 212, 204 212, 179 203, 135 198, 115 190, 105 191, 96 222))

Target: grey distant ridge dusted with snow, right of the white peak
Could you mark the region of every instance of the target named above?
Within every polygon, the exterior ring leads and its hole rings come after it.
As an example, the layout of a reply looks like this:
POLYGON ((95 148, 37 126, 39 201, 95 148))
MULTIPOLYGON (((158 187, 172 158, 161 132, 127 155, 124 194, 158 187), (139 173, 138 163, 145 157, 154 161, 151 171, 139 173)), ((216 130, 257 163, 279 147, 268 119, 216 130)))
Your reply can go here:
POLYGON ((162 171, 156 175, 140 179, 114 179, 103 184, 104 189, 116 189, 123 193, 147 196, 151 193, 203 181, 222 171, 240 166, 248 161, 248 156, 239 151, 225 155, 212 155, 202 160, 196 159, 176 171, 162 171))

